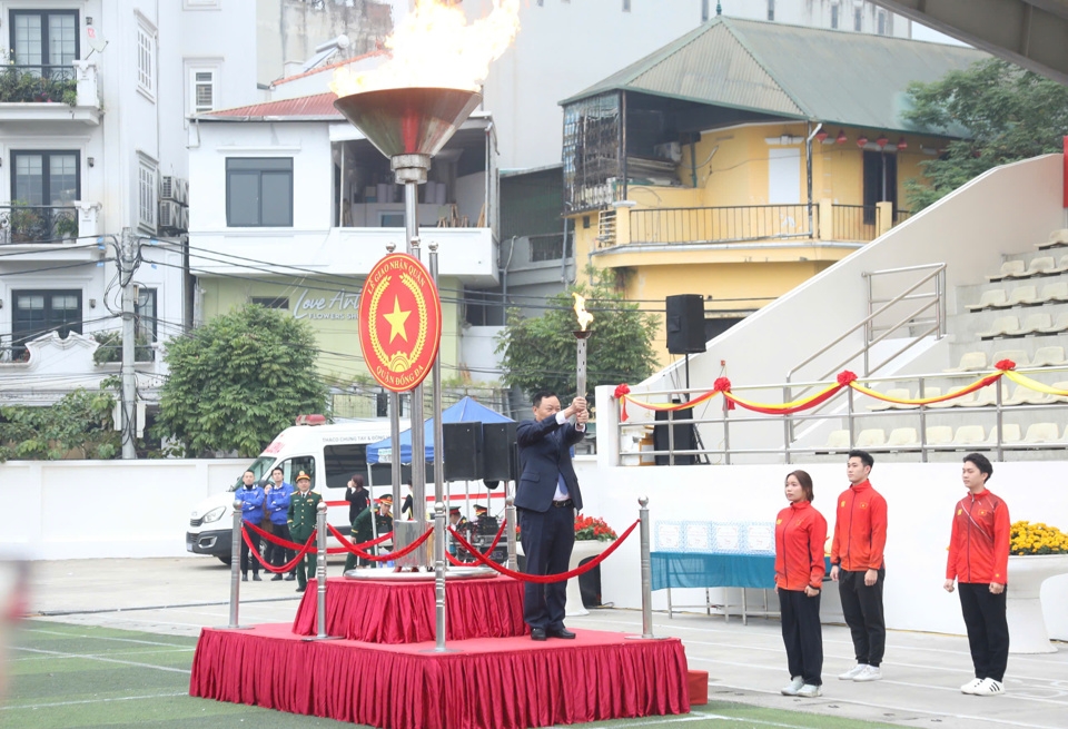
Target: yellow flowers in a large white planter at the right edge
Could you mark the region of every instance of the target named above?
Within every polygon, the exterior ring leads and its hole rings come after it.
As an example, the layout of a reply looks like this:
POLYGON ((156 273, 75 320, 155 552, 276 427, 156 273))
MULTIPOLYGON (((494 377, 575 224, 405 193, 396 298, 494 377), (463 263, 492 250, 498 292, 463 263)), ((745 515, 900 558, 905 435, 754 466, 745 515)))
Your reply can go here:
POLYGON ((1068 534, 1041 522, 1018 521, 1009 535, 1006 613, 1013 653, 1051 653, 1042 615, 1042 582, 1068 572, 1068 534))

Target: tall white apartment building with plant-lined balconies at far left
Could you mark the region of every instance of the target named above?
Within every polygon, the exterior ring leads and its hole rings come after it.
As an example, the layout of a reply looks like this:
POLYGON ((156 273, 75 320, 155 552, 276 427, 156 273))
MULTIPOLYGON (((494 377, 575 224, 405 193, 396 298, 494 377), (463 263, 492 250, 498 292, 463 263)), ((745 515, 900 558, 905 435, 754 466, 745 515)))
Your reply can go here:
MULTIPOLYGON (((118 371, 115 264, 139 242, 139 396, 190 324, 187 116, 255 100, 255 16, 234 0, 0 0, 0 402, 118 371)), ((221 180, 202 180, 220 185, 221 180)))

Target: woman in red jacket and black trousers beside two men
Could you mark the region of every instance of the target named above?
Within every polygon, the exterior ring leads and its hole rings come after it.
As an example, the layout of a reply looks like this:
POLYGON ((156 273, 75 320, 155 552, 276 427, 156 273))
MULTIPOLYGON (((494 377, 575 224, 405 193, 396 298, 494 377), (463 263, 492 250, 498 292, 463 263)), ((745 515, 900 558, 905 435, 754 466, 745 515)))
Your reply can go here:
POLYGON ((820 590, 827 520, 812 508, 812 476, 804 471, 787 476, 785 493, 790 505, 775 520, 775 591, 790 667, 790 683, 782 693, 814 698, 823 684, 820 590))

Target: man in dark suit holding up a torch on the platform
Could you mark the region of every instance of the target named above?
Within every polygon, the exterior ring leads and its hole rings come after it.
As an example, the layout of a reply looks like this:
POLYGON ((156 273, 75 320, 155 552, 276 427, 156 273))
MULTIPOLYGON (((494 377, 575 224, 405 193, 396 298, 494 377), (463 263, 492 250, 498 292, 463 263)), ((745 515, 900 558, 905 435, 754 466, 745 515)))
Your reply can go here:
MULTIPOLYGON (((565 410, 550 392, 537 393, 532 402, 534 420, 516 428, 521 475, 515 505, 527 574, 560 574, 567 571, 575 544, 575 512, 582 510, 571 446, 585 437, 590 415, 583 397, 575 397, 565 410)), ((533 640, 575 637, 564 628, 566 581, 527 582, 524 590, 523 620, 533 640)))

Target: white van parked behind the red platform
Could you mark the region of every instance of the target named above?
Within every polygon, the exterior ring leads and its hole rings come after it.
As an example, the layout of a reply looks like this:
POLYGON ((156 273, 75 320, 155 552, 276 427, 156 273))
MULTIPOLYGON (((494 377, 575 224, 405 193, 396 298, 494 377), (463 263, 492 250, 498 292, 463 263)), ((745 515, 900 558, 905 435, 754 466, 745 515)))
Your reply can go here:
MULTIPOLYGON (((307 420, 314 420, 308 416, 307 420)), ((298 418, 298 422, 304 418, 298 418)), ((407 421, 400 421, 400 431, 408 427, 407 421)), ((326 500, 327 521, 339 531, 348 533, 348 502, 345 489, 354 473, 367 474, 367 445, 389 437, 388 420, 368 420, 338 425, 295 425, 279 433, 264 449, 248 470, 256 474, 257 481, 266 481, 275 466, 280 466, 286 483, 296 486, 297 474, 304 471, 312 476, 312 490, 326 500)), ((208 496, 192 511, 189 531, 186 533, 186 551, 194 554, 210 554, 222 562, 230 563, 230 540, 234 525, 234 492, 241 485, 244 472, 236 474, 234 483, 224 492, 208 496)), ((387 482, 389 475, 380 480, 387 482)), ((379 479, 376 474, 376 482, 379 479)), ((377 493, 386 493, 376 487, 377 493)), ((398 494, 394 494, 399 504, 398 494)))

